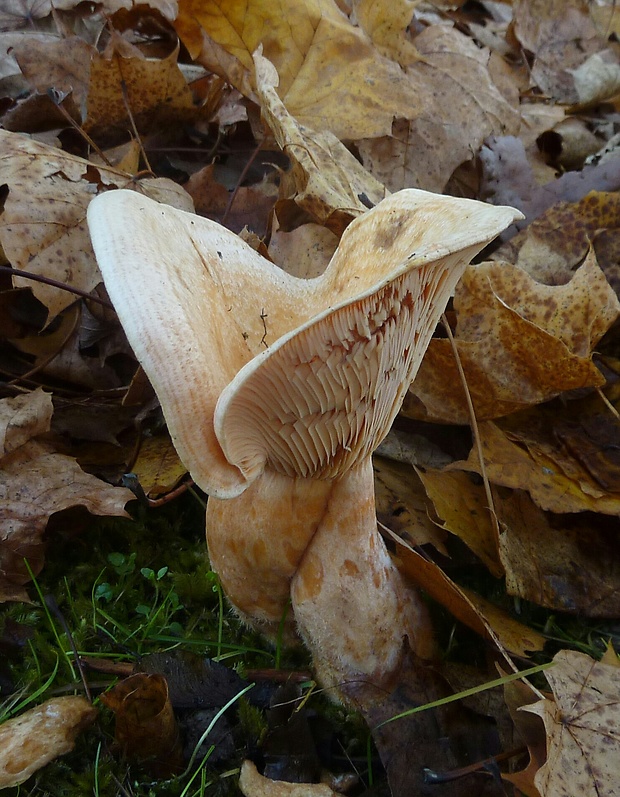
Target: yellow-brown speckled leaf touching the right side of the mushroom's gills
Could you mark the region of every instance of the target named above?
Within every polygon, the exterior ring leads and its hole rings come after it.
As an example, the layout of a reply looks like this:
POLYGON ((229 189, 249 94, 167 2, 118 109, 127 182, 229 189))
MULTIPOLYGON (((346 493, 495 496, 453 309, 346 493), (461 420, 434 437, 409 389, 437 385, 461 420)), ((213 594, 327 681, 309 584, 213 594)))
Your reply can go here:
MULTIPOLYGON (((541 285, 508 263, 470 266, 454 307, 456 345, 478 419, 604 384, 592 351, 618 318, 620 302, 592 253, 568 285, 541 285)), ((469 423, 460 384, 450 341, 433 340, 405 415, 469 423)))

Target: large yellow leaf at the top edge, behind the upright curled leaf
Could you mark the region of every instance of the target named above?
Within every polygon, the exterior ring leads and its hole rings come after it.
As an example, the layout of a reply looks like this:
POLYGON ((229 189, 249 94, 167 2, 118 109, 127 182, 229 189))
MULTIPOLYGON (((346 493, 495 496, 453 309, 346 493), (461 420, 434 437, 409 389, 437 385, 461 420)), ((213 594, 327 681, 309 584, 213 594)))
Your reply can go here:
POLYGON ((180 0, 174 25, 192 57, 252 99, 262 44, 288 112, 341 140, 389 135, 404 108, 431 111, 333 0, 227 0, 225 13, 219 0, 180 0))

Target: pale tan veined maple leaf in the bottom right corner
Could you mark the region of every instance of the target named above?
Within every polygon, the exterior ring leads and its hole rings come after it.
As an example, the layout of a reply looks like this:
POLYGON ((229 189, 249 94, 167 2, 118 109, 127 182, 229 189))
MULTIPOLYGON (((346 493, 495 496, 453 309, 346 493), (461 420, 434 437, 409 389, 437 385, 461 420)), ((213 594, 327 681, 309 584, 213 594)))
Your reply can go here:
POLYGON ((522 710, 542 717, 547 761, 534 782, 542 797, 617 793, 620 760, 618 667, 561 650, 545 672, 553 700, 522 710))

